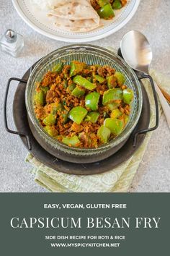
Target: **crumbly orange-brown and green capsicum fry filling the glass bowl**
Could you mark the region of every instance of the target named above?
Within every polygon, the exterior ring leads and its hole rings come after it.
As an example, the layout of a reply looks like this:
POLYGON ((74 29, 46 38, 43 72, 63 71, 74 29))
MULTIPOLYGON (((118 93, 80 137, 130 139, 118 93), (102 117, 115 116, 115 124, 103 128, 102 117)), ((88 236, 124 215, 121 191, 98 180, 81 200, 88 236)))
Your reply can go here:
POLYGON ((54 65, 36 83, 34 103, 49 136, 70 147, 97 148, 120 135, 132 102, 124 74, 75 60, 54 65))

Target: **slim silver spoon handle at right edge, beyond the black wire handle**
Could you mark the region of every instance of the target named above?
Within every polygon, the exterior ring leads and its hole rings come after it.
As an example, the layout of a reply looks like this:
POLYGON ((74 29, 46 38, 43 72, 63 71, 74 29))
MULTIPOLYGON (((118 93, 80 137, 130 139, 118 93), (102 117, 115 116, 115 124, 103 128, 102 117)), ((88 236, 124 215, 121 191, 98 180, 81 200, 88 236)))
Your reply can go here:
POLYGON ((164 114, 166 116, 166 120, 169 124, 170 128, 170 106, 169 103, 167 103, 166 99, 164 98, 164 95, 161 93, 161 90, 158 88, 158 85, 156 82, 154 82, 156 93, 158 94, 159 101, 161 102, 161 106, 163 108, 164 114))

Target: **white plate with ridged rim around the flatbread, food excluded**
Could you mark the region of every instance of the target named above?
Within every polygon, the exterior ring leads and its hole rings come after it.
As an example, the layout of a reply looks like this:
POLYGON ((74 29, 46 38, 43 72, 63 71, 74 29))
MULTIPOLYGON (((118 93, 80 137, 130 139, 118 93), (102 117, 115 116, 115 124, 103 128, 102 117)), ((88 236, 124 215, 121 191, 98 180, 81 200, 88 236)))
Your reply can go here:
POLYGON ((48 36, 55 40, 64 42, 83 43, 93 40, 105 38, 117 30, 120 30, 125 24, 133 17, 140 0, 128 0, 128 4, 120 10, 115 12, 115 18, 109 21, 103 21, 104 26, 86 33, 71 33, 59 30, 58 27, 53 25, 53 22, 47 17, 45 12, 39 11, 32 7, 30 0, 12 0, 18 14, 27 25, 30 25, 34 30, 42 35, 48 36))

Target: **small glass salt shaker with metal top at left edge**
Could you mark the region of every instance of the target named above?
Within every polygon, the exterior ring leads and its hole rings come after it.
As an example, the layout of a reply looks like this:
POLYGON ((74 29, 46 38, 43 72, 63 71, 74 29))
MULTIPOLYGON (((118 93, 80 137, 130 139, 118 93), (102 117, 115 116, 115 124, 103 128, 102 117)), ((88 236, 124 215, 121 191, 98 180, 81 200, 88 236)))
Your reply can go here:
POLYGON ((6 30, 0 39, 0 46, 1 51, 17 57, 24 47, 24 38, 14 30, 6 30))

